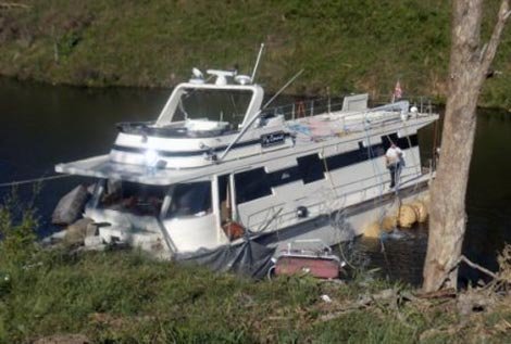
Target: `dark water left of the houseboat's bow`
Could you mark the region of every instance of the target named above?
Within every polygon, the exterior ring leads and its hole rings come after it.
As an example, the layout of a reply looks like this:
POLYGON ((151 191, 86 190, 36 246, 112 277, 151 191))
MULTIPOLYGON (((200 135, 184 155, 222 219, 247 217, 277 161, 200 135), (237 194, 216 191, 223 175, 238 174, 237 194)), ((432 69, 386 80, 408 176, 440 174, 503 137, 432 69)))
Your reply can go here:
MULTIPOLYGON (((54 175, 58 163, 107 154, 115 123, 150 120, 169 90, 85 89, 16 82, 0 78, 0 183, 54 175)), ((41 230, 57 202, 78 182, 77 177, 46 181, 37 207, 41 230)), ((24 199, 32 186, 18 188, 24 199)), ((0 188, 0 195, 10 192, 0 188)))

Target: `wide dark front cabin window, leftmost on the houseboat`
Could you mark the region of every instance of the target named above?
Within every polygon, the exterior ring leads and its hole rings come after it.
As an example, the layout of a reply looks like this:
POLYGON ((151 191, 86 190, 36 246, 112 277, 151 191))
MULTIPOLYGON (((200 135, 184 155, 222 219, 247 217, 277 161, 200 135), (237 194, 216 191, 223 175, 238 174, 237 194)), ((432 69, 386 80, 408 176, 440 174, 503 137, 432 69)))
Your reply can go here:
POLYGON ((166 188, 136 182, 109 180, 99 206, 138 216, 158 216, 166 188))

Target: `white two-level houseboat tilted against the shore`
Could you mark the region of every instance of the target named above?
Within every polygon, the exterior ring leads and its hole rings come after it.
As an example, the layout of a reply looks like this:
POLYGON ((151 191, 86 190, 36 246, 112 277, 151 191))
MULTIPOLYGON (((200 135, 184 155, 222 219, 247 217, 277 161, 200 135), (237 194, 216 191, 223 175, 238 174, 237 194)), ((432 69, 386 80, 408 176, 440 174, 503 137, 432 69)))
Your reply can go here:
POLYGON ((361 234, 398 193, 427 191, 433 173, 417 130, 437 114, 408 101, 369 109, 367 94, 344 98, 338 110, 299 104, 286 114, 263 105, 252 77, 208 74, 195 69, 176 86, 154 122, 120 124, 109 154, 55 166, 97 179, 84 216, 103 224, 102 242, 166 257, 248 240, 332 245, 361 234), (391 143, 406 154, 396 189, 384 160, 391 143))

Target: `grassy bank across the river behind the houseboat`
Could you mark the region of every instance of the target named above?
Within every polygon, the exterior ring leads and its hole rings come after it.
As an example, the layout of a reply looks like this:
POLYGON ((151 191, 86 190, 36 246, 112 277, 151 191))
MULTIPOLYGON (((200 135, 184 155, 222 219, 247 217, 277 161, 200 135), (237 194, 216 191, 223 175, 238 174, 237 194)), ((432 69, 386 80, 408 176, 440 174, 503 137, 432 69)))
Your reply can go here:
MULTIPOLYGON (((443 0, 115 1, 18 0, 0 8, 0 74, 87 86, 170 87, 192 66, 248 73, 260 42, 259 80, 292 93, 369 91, 443 98, 450 4, 443 0)), ((485 4, 488 36, 498 1, 485 4)), ((508 28, 482 104, 510 109, 508 28)))

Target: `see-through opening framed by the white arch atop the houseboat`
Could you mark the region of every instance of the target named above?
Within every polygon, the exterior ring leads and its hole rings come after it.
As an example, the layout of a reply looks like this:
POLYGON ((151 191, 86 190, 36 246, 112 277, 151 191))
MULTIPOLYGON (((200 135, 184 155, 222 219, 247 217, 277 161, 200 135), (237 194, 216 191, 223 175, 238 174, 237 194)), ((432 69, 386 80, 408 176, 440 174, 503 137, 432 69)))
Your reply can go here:
POLYGON ((252 93, 245 90, 186 89, 182 94, 173 122, 209 119, 228 122, 235 127, 245 117, 252 93))

